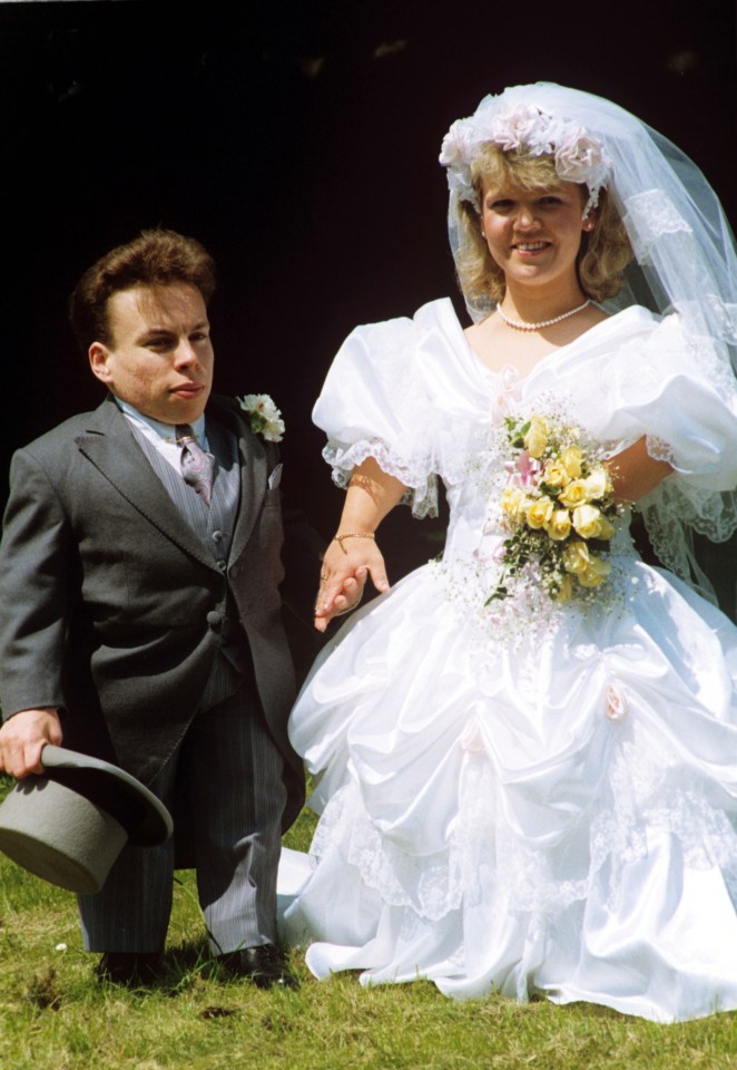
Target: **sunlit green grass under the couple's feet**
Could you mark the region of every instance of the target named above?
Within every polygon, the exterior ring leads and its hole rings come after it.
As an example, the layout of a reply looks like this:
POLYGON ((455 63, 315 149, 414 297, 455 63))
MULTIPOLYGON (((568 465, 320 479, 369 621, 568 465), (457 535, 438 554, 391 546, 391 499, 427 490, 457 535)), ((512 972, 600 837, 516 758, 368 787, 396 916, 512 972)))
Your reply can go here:
MULTIPOLYGON (((288 845, 311 829, 305 814, 288 845)), ((73 896, 0 857, 0 1070, 737 1070, 737 1013, 656 1025, 588 1004, 454 1003, 426 982, 317 982, 298 952, 297 992, 225 981, 194 875, 178 876, 166 975, 128 991, 96 983, 73 896)))

